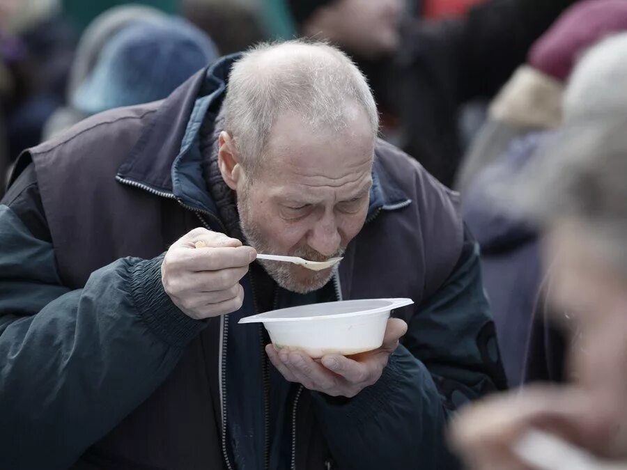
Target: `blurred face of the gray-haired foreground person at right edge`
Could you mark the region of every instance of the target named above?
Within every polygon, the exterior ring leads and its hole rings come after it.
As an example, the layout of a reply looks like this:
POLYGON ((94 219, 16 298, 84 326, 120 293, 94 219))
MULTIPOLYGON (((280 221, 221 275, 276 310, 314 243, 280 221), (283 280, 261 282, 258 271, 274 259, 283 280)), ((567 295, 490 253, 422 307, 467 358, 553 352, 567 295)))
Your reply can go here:
MULTIPOLYGON (((627 432, 627 279, 599 256, 593 238, 573 221, 555 224, 546 244, 555 259, 551 300, 573 332, 573 377, 597 396, 598 414, 627 432)), ((627 448, 622 431, 617 440, 627 448)))

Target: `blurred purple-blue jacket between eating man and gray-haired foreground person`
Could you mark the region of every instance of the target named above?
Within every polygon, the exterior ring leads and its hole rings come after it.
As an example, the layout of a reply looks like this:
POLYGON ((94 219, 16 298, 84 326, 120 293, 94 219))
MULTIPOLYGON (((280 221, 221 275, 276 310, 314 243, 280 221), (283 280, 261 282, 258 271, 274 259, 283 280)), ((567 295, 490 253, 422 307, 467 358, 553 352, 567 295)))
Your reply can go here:
POLYGON ((522 381, 542 272, 538 233, 516 213, 502 189, 518 182, 546 135, 535 132, 515 139, 496 162, 479 172, 462 206, 463 217, 481 246, 483 284, 511 386, 522 381))

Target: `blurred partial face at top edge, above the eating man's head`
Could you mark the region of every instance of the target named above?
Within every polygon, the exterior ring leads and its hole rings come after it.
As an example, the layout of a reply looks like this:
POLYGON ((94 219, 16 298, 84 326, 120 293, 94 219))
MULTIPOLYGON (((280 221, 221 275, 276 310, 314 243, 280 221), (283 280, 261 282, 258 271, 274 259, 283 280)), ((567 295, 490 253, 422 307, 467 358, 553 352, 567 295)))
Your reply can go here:
POLYGON ((306 36, 322 36, 346 51, 376 58, 398 47, 403 0, 336 0, 318 8, 303 25, 306 36))

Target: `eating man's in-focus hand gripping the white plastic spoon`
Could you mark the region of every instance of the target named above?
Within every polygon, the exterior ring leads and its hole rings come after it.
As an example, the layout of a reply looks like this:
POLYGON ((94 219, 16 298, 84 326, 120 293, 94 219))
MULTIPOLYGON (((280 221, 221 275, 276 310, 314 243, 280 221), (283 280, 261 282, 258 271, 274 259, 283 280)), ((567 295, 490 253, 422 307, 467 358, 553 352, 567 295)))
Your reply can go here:
POLYGON ((244 301, 240 279, 256 254, 240 240, 195 228, 166 253, 163 288, 183 313, 196 320, 234 312, 244 301), (199 242, 205 247, 196 248, 199 242))

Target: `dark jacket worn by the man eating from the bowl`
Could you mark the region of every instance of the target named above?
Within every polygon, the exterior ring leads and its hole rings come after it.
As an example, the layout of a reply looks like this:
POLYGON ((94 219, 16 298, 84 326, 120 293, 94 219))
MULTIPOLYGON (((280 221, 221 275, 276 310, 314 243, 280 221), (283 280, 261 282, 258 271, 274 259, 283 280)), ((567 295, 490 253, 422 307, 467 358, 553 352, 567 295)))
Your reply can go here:
MULTIPOLYGON (((368 221, 325 288, 416 302, 395 313, 409 331, 377 384, 350 400, 287 386, 269 416, 263 330, 238 325, 256 311, 250 276, 230 315, 199 322, 174 306, 162 253, 196 226, 224 230, 199 130, 232 60, 18 165, 0 205, 0 468, 451 468, 447 416, 504 386, 456 195, 382 142, 368 221)), ((279 289, 274 305, 309 301, 279 289)))

